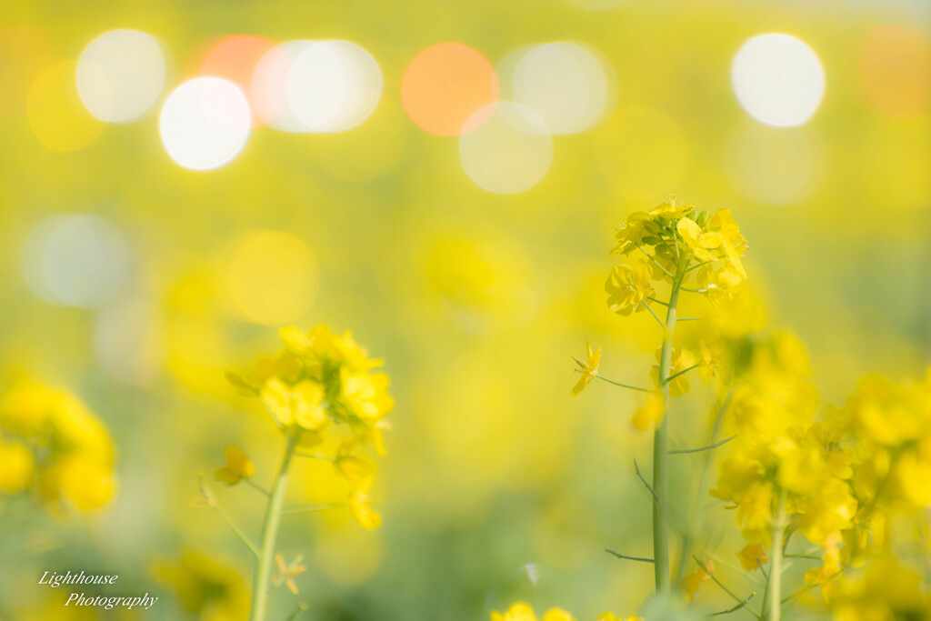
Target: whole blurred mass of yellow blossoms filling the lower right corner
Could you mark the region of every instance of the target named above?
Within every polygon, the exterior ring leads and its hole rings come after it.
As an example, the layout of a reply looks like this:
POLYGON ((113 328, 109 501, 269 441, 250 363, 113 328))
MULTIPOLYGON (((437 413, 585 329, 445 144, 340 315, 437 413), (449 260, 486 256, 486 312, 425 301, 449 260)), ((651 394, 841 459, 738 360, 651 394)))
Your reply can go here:
POLYGON ((908 543, 895 533, 920 533, 931 505, 931 376, 868 376, 819 420, 803 344, 776 334, 751 350, 727 412, 735 441, 711 491, 735 509, 743 568, 770 563, 771 586, 799 533, 817 550, 800 558, 821 560, 803 590, 820 587, 835 619, 931 618, 924 580, 893 554, 908 543))

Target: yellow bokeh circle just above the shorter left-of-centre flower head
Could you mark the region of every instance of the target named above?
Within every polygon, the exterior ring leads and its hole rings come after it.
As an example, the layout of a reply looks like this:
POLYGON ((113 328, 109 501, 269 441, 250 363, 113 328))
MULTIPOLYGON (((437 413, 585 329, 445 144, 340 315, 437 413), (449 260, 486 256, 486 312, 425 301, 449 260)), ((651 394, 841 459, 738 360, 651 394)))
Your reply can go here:
POLYGON ((317 297, 314 253, 289 233, 263 231, 245 239, 236 248, 229 277, 240 312, 268 326, 300 319, 317 297))

